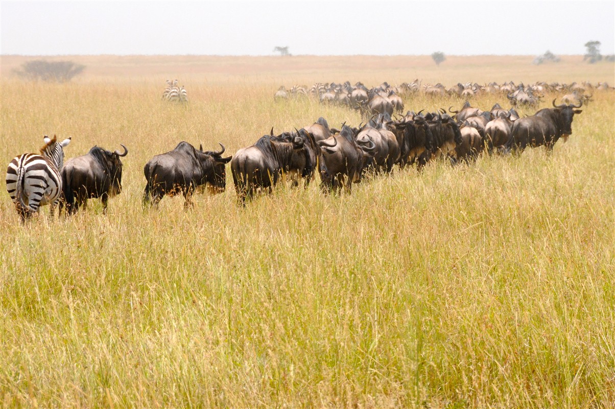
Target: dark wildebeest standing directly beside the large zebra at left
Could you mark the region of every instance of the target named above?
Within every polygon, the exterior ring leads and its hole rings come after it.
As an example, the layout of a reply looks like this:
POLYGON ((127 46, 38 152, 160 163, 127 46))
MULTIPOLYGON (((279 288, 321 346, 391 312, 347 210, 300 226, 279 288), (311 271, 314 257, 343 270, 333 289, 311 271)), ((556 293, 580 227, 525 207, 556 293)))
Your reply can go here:
POLYGON ((103 203, 103 213, 106 213, 109 198, 122 192, 120 158, 128 154, 128 149, 124 145, 121 146, 124 148, 124 153, 117 150, 109 152, 95 146, 87 154, 66 161, 60 172, 66 213, 73 214, 80 206, 87 208, 87 200, 92 198, 100 198, 103 203))

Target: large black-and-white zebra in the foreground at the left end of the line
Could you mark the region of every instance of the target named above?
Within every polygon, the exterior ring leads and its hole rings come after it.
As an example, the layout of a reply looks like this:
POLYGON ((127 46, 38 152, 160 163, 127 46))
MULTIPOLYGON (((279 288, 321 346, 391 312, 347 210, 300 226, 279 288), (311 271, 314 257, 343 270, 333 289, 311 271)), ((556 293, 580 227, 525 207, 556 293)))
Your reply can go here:
POLYGON ((41 155, 24 153, 10 161, 6 170, 6 190, 22 222, 33 213, 38 213, 39 206, 44 204, 51 204, 53 216, 54 208, 60 202, 63 148, 71 142, 71 138, 58 142, 54 135, 54 139, 44 136, 43 140, 45 145, 41 148, 41 155))

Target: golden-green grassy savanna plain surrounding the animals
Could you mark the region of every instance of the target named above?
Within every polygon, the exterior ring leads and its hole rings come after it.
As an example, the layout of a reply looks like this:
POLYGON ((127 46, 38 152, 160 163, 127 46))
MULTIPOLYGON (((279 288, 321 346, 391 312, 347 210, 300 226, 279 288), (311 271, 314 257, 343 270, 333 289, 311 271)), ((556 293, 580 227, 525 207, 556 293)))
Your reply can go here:
MULTIPOLYGON (((273 126, 354 111, 274 103, 284 84, 608 81, 613 64, 532 57, 62 57, 69 84, 24 83, 2 56, 0 160, 44 134, 129 148, 124 189, 26 225, 0 193, 5 407, 613 407, 613 91, 573 135, 519 158, 395 169, 323 195, 280 185, 144 210, 143 165, 181 140, 229 155, 273 126), (186 106, 164 103, 165 79, 186 106)), ((541 107, 557 95, 547 95, 541 107)), ((488 109, 501 95, 472 101, 488 109)), ((462 101, 423 96, 407 109, 462 101)), ((534 109, 521 110, 532 114, 534 109)), ((4 178, 0 190, 5 192, 4 178)))

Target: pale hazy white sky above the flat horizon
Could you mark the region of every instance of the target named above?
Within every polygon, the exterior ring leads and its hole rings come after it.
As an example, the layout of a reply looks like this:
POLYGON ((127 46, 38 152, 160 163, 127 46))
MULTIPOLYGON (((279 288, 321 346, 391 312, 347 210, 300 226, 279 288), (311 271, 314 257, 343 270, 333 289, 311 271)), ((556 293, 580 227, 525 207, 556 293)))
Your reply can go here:
POLYGON ((0 54, 615 54, 608 1, 7 1, 0 54))

